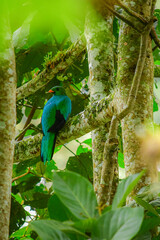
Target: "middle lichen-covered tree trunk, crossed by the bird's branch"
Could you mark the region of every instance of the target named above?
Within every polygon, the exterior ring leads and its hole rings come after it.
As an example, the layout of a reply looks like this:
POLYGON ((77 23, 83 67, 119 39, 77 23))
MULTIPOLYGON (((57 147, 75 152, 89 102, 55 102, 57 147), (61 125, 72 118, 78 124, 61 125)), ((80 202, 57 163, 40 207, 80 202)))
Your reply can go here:
MULTIPOLYGON (((86 17, 85 37, 88 51, 91 104, 109 95, 113 87, 113 16, 106 14, 106 12, 105 16, 104 19, 92 9, 88 11, 86 17)), ((92 131, 93 177, 97 199, 99 199, 98 191, 107 132, 108 126, 101 126, 92 131)), ((112 184, 112 182, 107 183, 107 185, 109 184, 112 184)), ((107 192, 104 194, 108 196, 107 192)))

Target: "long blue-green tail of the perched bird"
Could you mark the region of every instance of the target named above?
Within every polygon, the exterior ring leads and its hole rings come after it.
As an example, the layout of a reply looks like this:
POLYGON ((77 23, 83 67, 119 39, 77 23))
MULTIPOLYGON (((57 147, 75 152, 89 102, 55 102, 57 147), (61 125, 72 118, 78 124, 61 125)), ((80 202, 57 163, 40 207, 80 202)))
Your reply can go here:
POLYGON ((41 142, 41 160, 44 162, 44 164, 52 159, 55 143, 55 133, 47 132, 47 134, 43 136, 41 142))

